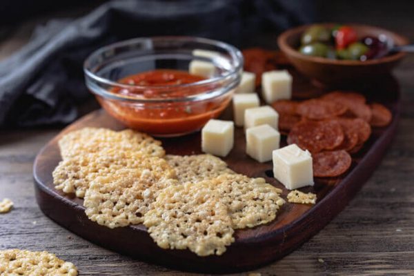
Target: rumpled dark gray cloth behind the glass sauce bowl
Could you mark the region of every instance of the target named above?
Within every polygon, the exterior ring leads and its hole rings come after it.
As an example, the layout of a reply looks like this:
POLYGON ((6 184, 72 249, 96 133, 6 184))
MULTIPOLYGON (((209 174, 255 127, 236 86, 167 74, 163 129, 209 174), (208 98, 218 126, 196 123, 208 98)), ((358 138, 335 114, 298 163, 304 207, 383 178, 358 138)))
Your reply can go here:
POLYGON ((313 19, 307 0, 109 1, 75 20, 52 20, 0 63, 0 126, 68 124, 90 97, 83 60, 100 46, 132 37, 191 35, 243 46, 262 32, 313 19))

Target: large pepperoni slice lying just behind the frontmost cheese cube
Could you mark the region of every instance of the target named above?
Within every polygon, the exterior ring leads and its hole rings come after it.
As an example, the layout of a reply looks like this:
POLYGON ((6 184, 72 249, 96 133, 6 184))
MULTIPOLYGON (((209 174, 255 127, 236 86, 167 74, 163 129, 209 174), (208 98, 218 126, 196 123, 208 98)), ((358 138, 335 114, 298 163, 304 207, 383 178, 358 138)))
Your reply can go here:
POLYGON ((332 150, 344 141, 342 126, 336 120, 300 121, 288 135, 288 144, 297 144, 299 148, 310 152, 332 150))

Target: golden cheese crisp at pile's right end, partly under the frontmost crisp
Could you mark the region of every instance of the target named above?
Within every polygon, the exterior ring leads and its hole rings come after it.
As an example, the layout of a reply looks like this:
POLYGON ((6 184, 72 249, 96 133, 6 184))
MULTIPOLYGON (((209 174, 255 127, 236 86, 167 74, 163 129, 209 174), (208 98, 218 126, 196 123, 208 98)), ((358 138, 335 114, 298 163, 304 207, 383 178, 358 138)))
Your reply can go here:
POLYGON ((228 207, 235 229, 272 221, 284 204, 284 199, 279 196, 282 190, 267 184, 263 178, 221 175, 209 182, 217 191, 221 203, 228 207))

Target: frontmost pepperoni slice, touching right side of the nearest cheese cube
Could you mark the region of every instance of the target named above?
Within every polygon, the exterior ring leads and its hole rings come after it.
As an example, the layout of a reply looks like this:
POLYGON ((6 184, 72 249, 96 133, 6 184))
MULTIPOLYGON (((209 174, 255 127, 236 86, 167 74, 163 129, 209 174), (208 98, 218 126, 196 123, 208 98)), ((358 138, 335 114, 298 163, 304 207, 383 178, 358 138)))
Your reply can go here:
POLYGON ((312 162, 314 177, 338 177, 351 167, 352 158, 345 150, 335 150, 313 154, 312 162))

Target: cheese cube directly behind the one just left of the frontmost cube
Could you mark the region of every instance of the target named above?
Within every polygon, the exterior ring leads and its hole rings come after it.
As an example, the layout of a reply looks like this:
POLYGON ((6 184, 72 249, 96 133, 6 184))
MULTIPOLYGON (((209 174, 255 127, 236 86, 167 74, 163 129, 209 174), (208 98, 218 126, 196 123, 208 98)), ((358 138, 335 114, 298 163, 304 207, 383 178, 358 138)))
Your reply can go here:
POLYGON ((279 114, 270 106, 260 106, 259 108, 248 108, 244 111, 244 128, 270 125, 277 130, 279 123, 279 114))

